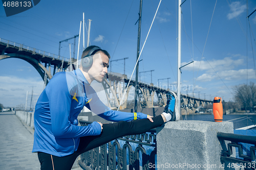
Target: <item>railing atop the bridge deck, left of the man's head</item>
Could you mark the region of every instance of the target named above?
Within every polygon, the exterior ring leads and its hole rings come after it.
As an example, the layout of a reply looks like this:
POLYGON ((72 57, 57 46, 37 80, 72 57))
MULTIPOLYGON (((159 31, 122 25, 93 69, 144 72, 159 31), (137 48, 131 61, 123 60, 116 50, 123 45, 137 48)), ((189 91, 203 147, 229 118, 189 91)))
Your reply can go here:
POLYGON ((30 47, 30 46, 27 46, 27 45, 23 45, 23 44, 19 44, 19 43, 16 43, 16 42, 12 42, 12 41, 9 41, 9 40, 3 39, 3 38, 0 38, 0 43, 5 43, 5 44, 7 44, 7 46, 17 47, 17 48, 19 48, 19 51, 27 51, 27 52, 30 52, 32 54, 42 55, 42 57, 51 57, 51 58, 54 58, 54 59, 64 60, 66 62, 70 62, 70 59, 68 59, 68 58, 61 57, 61 56, 58 56, 58 55, 55 55, 55 54, 52 54, 52 53, 48 53, 48 52, 45 52, 45 51, 41 51, 41 50, 38 50, 36 48, 30 47))

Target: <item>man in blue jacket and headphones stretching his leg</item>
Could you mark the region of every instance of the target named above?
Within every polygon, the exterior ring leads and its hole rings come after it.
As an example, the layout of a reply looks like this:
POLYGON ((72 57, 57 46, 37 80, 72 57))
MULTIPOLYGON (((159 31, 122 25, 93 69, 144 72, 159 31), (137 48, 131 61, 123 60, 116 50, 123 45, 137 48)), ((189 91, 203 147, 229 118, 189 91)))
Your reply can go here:
POLYGON ((106 107, 90 84, 94 80, 103 81, 109 59, 105 50, 89 46, 82 53, 78 69, 58 72, 42 91, 35 107, 32 151, 38 153, 41 169, 71 169, 77 156, 84 152, 118 137, 145 133, 169 120, 179 120, 174 92, 168 92, 164 113, 156 117, 106 107), (93 122, 86 127, 77 126, 77 116, 84 106, 102 118, 118 123, 93 122))

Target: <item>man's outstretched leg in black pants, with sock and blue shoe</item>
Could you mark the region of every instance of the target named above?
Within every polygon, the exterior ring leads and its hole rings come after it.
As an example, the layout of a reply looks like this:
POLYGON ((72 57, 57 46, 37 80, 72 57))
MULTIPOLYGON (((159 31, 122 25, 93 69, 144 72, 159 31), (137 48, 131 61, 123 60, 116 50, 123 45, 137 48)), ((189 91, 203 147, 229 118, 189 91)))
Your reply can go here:
POLYGON ((79 154, 99 147, 118 137, 145 133, 148 130, 161 126, 165 122, 178 121, 180 119, 180 113, 177 107, 177 95, 174 92, 169 91, 167 93, 167 99, 164 113, 153 117, 152 119, 154 122, 150 122, 148 119, 140 119, 132 122, 121 121, 114 124, 103 124, 103 129, 100 135, 81 137, 78 147, 79 154))

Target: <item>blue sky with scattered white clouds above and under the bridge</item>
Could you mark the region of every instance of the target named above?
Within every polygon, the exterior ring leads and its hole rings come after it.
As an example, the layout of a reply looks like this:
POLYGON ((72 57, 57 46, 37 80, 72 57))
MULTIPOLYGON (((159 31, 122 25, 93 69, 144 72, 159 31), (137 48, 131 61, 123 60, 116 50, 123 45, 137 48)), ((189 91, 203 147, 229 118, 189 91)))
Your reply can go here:
MULTIPOLYGON (((141 54, 139 72, 154 69, 154 85, 158 79, 165 79, 159 80, 159 85, 167 87, 167 78, 169 84, 177 83, 177 3, 162 0, 141 54)), ((143 1, 141 47, 158 4, 155 0, 143 1)), ((233 100, 233 86, 256 80, 256 12, 249 22, 246 19, 247 13, 256 9, 256 2, 248 1, 248 9, 246 1, 219 0, 216 8, 215 4, 216 1, 187 0, 182 5, 181 65, 194 63, 182 68, 181 92, 193 95, 194 88, 197 98, 200 95, 209 100, 211 96, 212 100, 213 96, 220 96, 229 101, 233 100), (188 91, 185 87, 189 87, 188 91)), ((59 41, 79 33, 84 13, 87 27, 87 20, 92 19, 91 44, 107 50, 112 60, 129 57, 125 60, 125 74, 131 76, 136 63, 138 12, 138 0, 40 1, 30 10, 9 17, 1 6, 0 38, 57 55, 59 41)), ((73 54, 73 42, 61 43, 61 56, 69 58, 69 43, 73 54)), ((75 58, 77 45, 78 38, 75 58)), ((81 54, 82 39, 79 48, 81 54)), ((113 61, 111 67, 123 74, 123 60, 113 61)), ((44 89, 38 72, 24 60, 1 60, 0 78, 0 103, 6 107, 25 104, 26 92, 31 95, 32 87, 35 105, 44 89)), ((141 73, 141 81, 151 83, 151 72, 141 73)), ((176 91, 177 86, 170 88, 176 91)))

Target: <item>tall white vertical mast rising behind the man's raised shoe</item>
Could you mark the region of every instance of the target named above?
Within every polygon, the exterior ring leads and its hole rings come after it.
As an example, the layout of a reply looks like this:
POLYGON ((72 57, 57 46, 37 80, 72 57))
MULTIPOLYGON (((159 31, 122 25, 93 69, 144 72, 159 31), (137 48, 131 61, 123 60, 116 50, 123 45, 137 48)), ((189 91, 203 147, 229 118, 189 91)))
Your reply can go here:
POLYGON ((181 0, 178 6, 178 70, 177 70, 177 96, 178 96, 178 109, 180 110, 180 66, 181 66, 181 0))

